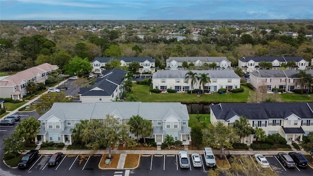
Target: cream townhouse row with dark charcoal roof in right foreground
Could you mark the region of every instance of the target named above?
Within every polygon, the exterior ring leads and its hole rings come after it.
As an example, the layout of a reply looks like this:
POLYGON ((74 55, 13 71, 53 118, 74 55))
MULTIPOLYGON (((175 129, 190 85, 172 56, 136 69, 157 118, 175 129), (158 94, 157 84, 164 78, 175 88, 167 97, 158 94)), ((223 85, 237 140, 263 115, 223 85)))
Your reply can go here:
MULTIPOLYGON (((210 109, 211 123, 221 121, 233 126, 243 116, 251 127, 262 128, 267 135, 279 133, 288 144, 302 141, 303 136, 313 132, 313 103, 221 103, 210 109)), ((250 145, 255 134, 242 140, 250 145)))

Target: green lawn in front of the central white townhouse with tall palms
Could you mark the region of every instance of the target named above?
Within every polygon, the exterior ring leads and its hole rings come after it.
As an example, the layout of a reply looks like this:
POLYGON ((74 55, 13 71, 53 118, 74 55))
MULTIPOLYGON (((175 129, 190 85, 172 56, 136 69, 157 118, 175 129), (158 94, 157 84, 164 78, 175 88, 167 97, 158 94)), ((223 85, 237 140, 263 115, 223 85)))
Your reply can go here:
POLYGON ((190 94, 190 93, 151 93, 149 94, 149 86, 146 85, 133 85, 133 94, 140 102, 182 102, 182 103, 234 103, 246 102, 249 91, 246 86, 241 86, 245 91, 242 93, 212 93, 212 94, 190 94))

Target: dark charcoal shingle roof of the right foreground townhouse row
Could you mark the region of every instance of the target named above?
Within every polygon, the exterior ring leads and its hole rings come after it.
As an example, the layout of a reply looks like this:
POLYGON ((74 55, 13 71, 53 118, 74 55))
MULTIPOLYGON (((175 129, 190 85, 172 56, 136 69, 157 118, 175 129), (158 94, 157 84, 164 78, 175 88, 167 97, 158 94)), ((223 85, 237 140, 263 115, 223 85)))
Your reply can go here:
POLYGON ((221 103, 210 108, 217 119, 225 121, 234 115, 242 115, 250 120, 285 119, 292 113, 302 119, 313 119, 309 106, 313 107, 307 103, 221 103))

